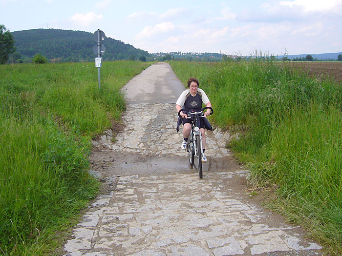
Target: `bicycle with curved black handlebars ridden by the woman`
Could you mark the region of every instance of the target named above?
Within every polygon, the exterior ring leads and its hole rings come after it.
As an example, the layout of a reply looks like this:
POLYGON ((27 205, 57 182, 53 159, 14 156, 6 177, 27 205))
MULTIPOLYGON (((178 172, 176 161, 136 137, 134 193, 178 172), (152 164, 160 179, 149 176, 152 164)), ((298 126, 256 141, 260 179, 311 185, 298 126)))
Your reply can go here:
POLYGON ((211 112, 209 115, 214 113, 214 110, 211 107, 205 107, 200 112, 190 112, 188 109, 182 108, 178 111, 178 116, 180 116, 181 111, 186 111, 189 118, 191 118, 191 132, 187 142, 187 151, 189 155, 189 162, 192 166, 194 163, 194 158, 198 158, 198 173, 199 177, 203 177, 202 172, 202 155, 203 155, 203 146, 202 146, 202 134, 199 131, 199 127, 197 124, 198 118, 202 118, 204 116, 203 110, 210 109, 211 112))

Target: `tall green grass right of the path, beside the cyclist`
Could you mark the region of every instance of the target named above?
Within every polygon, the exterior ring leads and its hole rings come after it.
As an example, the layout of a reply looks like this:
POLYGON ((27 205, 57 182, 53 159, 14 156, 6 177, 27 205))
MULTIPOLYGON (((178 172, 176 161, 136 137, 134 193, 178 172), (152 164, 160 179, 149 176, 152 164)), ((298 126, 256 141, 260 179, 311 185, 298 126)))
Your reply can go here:
POLYGON ((342 86, 272 60, 171 61, 184 84, 199 79, 216 125, 238 133, 228 145, 251 168, 269 208, 342 254, 342 86))

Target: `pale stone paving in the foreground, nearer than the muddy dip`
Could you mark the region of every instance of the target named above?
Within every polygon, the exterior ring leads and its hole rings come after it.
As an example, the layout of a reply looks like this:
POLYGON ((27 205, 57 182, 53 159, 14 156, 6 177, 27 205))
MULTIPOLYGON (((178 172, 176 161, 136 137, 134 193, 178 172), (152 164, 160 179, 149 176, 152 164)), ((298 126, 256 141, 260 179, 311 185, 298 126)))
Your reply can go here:
POLYGON ((70 256, 220 256, 320 249, 300 239, 296 227, 264 224, 270 213, 234 196, 230 180, 247 173, 207 174, 202 180, 120 177, 117 191, 93 203, 65 250, 70 256))

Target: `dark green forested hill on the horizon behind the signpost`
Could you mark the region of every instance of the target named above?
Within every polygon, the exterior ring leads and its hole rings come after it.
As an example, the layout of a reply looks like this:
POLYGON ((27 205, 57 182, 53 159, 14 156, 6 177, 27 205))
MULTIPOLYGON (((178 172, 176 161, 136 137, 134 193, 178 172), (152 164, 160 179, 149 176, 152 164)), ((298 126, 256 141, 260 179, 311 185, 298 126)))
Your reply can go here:
MULTIPOLYGON (((17 47, 16 53, 21 55, 21 59, 31 59, 38 53, 55 61, 91 61, 97 57, 93 53, 96 44, 93 33, 62 29, 31 29, 11 33, 17 47)), ((147 51, 119 40, 106 38, 103 44, 106 47, 105 60, 151 56, 147 51)))

